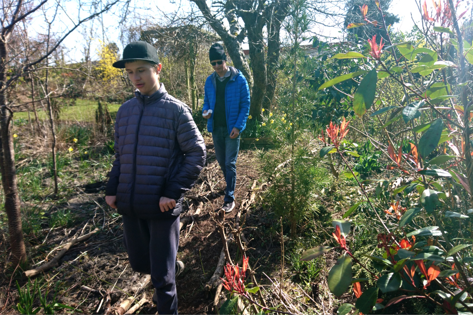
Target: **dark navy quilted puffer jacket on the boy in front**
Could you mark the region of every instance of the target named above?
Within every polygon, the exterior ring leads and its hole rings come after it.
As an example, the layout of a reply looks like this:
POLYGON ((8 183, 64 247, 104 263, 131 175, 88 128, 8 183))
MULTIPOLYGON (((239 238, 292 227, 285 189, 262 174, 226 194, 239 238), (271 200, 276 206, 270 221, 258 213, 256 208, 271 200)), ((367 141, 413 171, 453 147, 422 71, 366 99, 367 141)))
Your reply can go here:
POLYGON ((105 194, 117 196, 118 213, 141 219, 178 216, 183 194, 197 180, 206 151, 190 108, 164 85, 151 96, 135 93, 117 112, 115 161, 105 194), (159 199, 176 200, 161 212, 159 199))

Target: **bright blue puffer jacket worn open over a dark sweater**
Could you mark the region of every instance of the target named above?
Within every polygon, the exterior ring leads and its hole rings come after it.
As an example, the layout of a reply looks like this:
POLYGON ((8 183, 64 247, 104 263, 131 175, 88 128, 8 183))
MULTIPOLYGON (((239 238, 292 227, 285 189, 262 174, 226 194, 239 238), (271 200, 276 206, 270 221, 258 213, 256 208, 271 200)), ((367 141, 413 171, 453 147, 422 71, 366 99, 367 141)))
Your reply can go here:
MULTIPOLYGON (((250 89, 241 71, 234 67, 229 68, 232 74, 225 87, 225 110, 228 133, 230 134, 234 127, 241 132, 246 126, 246 119, 250 113, 250 89)), ((214 71, 205 80, 202 113, 209 109, 215 112, 216 76, 217 72, 214 71)), ((213 115, 207 120, 207 130, 213 131, 213 115)))

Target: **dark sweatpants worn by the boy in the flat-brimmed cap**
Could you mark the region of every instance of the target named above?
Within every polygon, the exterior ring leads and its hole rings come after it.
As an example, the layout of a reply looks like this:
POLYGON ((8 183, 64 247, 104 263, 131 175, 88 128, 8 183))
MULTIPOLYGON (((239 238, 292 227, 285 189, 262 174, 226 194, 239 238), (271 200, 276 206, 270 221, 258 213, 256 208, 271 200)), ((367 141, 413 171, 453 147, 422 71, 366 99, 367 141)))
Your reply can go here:
POLYGON ((144 220, 123 216, 123 235, 132 269, 151 275, 158 313, 177 314, 175 264, 179 217, 144 220))

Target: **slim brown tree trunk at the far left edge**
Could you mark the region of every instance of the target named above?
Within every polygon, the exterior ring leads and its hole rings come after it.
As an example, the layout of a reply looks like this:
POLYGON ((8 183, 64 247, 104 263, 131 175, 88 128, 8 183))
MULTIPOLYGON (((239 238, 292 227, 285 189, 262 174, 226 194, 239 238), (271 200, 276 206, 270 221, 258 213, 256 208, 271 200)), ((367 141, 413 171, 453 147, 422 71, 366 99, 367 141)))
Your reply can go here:
MULTIPOLYGON (((0 38, 0 89, 4 87, 6 80, 6 42, 7 38, 2 36, 0 38)), ((8 218, 12 263, 17 265, 20 262, 25 262, 27 257, 21 224, 13 138, 9 128, 13 113, 7 108, 7 105, 6 91, 3 91, 0 93, 0 172, 5 194, 5 212, 8 218)))

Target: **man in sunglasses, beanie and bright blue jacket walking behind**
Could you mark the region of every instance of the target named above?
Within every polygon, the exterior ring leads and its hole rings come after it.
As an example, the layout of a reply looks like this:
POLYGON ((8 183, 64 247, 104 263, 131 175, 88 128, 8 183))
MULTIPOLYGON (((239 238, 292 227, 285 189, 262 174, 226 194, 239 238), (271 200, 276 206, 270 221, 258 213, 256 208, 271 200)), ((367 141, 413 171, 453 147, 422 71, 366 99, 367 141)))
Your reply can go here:
POLYGON ((210 64, 215 70, 205 81, 202 115, 212 133, 215 156, 227 183, 221 209, 235 207, 236 157, 240 133, 250 111, 250 90, 240 70, 227 66, 227 55, 220 44, 209 50, 210 64))

